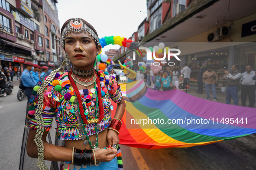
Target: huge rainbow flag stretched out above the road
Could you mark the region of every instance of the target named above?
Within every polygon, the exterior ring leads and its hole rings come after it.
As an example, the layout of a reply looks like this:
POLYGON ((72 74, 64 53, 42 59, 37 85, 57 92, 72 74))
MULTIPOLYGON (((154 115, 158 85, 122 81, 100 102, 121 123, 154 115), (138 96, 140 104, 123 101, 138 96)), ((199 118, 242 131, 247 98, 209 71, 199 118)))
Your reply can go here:
MULTIPOLYGON (((126 111, 120 129, 120 144, 137 148, 170 148, 207 145, 256 133, 256 109, 208 101, 183 91, 155 91, 143 80, 121 85, 126 111), (131 119, 206 119, 209 124, 135 124, 131 119), (214 122, 212 120, 214 118, 214 122), (219 118, 217 123, 217 118, 219 118), (234 118, 238 123, 220 123, 234 118), (241 119, 243 118, 243 123, 241 119), (245 118, 247 118, 245 120, 245 118), (214 124, 213 124, 214 123, 214 124)), ((113 103, 114 111, 117 104, 113 103)), ((114 115, 112 114, 112 117, 114 115)))

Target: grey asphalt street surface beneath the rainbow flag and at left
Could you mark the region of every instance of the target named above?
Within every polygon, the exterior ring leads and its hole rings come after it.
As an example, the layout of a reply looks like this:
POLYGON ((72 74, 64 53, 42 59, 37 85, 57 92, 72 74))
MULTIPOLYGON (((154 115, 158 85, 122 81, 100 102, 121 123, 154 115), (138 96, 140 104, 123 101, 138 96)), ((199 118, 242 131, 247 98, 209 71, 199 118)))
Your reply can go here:
MULTIPOLYGON (((18 170, 26 102, 0 97, 2 170, 18 170)), ((54 125, 55 126, 55 125, 54 125)), ((51 134, 55 134, 53 126, 51 134)), ((190 148, 142 149, 120 145, 124 170, 255 170, 256 135, 190 148)))

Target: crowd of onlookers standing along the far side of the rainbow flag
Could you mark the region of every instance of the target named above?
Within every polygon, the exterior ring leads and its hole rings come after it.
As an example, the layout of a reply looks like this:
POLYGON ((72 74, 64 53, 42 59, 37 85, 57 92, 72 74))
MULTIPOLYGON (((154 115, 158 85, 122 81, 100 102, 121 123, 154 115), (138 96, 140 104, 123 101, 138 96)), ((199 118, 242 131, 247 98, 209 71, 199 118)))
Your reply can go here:
MULTIPOLYGON (((163 69, 157 73, 153 73, 152 70, 147 67, 144 71, 137 69, 136 79, 128 79, 128 82, 144 79, 144 82, 149 88, 158 91, 169 91, 178 89, 188 92, 189 79, 191 76, 190 65, 183 63, 181 67, 163 67, 163 69)), ((204 66, 198 64, 198 94, 203 94, 203 83, 205 85, 206 99, 210 99, 210 88, 213 95, 213 101, 219 101, 217 99, 217 93, 215 89, 215 81, 217 73, 212 70, 212 66, 204 66), (206 68, 206 70, 205 70, 206 68)), ((241 88, 241 102, 242 106, 246 106, 246 98, 249 98, 249 106, 254 107, 256 104, 256 71, 253 71, 253 67, 246 66, 246 71, 241 73, 238 71, 239 66, 233 65, 231 72, 224 69, 224 79, 227 80, 227 92, 226 92, 226 104, 231 103, 231 98, 234 101, 234 105, 238 105, 238 89, 241 88)))

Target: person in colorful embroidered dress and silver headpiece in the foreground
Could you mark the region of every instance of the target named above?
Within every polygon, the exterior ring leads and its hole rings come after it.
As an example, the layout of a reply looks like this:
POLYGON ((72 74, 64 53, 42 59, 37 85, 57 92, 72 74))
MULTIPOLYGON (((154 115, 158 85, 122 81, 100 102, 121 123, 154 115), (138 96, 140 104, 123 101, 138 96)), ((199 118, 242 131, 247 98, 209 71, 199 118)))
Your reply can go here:
POLYGON ((69 19, 61 38, 66 59, 32 92, 27 154, 38 158, 40 170, 48 169, 44 160, 62 161, 61 170, 120 170, 117 144, 126 104, 119 83, 108 72, 95 69, 101 50, 97 32, 83 19, 69 19), (68 70, 58 74, 65 63, 68 70), (113 107, 117 109, 112 119, 113 107), (65 140, 65 147, 46 141, 53 117, 56 137, 65 140))

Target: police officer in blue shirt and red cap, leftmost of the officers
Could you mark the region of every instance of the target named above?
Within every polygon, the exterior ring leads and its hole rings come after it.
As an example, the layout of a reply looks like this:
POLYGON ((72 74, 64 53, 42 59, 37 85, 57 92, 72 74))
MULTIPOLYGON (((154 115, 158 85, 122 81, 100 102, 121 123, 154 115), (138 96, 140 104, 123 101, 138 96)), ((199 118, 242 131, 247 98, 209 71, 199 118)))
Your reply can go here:
POLYGON ((21 80, 23 85, 26 87, 25 94, 28 98, 28 103, 30 101, 30 96, 32 95, 32 91, 34 86, 36 85, 36 81, 30 73, 33 69, 34 64, 27 61, 24 63, 24 71, 21 74, 21 80))

